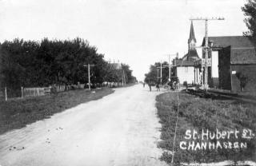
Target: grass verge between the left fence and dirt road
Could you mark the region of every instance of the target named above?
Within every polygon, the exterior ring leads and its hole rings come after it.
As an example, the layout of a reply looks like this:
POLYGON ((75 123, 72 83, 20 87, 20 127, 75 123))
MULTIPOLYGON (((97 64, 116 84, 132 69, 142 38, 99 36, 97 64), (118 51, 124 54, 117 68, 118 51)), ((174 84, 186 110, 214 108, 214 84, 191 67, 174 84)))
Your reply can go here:
POLYGON ((42 97, 14 101, 0 101, 0 134, 25 127, 35 121, 49 118, 54 113, 70 109, 87 101, 97 100, 113 89, 98 89, 95 93, 86 90, 73 90, 42 97))

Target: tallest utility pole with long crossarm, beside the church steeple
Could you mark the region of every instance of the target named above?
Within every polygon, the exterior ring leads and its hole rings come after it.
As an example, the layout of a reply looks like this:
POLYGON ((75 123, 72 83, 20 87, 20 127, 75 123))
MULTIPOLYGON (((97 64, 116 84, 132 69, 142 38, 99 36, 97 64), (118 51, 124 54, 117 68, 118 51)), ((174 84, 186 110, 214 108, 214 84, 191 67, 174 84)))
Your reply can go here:
POLYGON ((213 21, 213 20, 224 20, 224 18, 190 18, 191 21, 195 20, 195 21, 205 21, 206 22, 206 34, 205 34, 205 64, 204 65, 205 69, 205 81, 204 81, 204 85, 203 88, 208 89, 208 51, 209 51, 209 46, 208 46, 208 21, 213 21))

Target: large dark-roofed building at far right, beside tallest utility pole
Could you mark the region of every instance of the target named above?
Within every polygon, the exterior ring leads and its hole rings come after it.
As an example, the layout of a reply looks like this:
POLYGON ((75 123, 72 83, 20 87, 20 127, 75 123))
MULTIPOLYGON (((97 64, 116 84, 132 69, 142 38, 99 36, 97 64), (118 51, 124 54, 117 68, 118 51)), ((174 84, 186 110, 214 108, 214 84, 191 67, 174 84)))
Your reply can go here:
MULTIPOLYGON (((244 83, 243 91, 255 91, 256 47, 254 42, 244 36, 209 37, 208 41, 210 45, 208 84, 210 87, 241 92, 241 85, 244 83), (218 77, 213 77, 214 72, 218 73, 218 77)), ((205 45, 205 38, 202 45, 205 45)), ((202 64, 204 54, 203 51, 202 64)), ((202 77, 204 81, 204 73, 202 77)))

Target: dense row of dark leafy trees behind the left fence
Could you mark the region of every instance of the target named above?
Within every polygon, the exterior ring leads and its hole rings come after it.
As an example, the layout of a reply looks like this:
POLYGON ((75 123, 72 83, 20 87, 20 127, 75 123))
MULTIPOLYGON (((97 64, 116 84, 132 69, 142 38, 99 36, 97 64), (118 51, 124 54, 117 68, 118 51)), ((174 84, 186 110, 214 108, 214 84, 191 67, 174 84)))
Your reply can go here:
POLYGON ((92 83, 135 81, 130 66, 104 60, 97 48, 81 38, 65 41, 4 41, 0 45, 0 86, 10 89, 69 85, 88 82, 86 64, 94 64, 90 70, 92 83))

